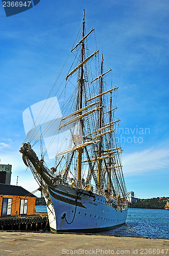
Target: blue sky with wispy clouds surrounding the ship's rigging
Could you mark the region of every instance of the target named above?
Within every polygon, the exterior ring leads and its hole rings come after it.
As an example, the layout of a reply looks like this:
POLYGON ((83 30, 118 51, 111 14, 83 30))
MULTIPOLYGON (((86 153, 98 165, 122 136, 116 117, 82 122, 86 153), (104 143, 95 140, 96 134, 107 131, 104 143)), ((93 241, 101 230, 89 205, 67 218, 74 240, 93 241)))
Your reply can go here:
POLYGON ((41 0, 10 17, 1 4, 1 163, 12 164, 11 184, 19 175, 19 185, 30 191, 38 187, 18 152, 25 139, 22 113, 48 96, 80 29, 84 8, 86 29, 95 28, 105 69, 113 69, 113 83, 119 86, 116 115, 122 119, 127 189, 138 198, 168 196, 167 0, 41 0))

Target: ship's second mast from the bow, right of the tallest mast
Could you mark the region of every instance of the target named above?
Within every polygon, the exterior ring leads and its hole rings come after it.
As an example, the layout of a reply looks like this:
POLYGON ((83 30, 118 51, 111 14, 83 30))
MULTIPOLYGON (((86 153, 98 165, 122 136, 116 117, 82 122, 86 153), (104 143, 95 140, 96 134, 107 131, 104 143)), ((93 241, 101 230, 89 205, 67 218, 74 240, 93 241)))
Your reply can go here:
MULTIPOLYGON (((103 54, 102 54, 102 59, 101 59, 100 94, 102 94, 102 87, 103 87, 102 74, 103 74, 103 54)), ((100 96, 99 129, 101 129, 101 126, 102 126, 101 106, 102 106, 102 96, 100 96)), ((99 161, 98 161, 98 187, 100 187, 100 178, 101 178, 101 163, 102 163, 102 159, 100 159, 101 158, 101 145, 102 145, 102 143, 101 143, 101 139, 100 139, 100 142, 99 142, 99 161)))

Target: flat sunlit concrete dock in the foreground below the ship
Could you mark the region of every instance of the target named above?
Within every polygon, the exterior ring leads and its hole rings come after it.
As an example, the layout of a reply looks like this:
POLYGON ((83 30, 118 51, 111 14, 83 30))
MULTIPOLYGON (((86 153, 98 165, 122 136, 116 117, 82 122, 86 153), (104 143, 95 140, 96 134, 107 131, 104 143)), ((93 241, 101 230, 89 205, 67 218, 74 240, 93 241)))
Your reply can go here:
POLYGON ((0 255, 168 255, 169 240, 0 231, 0 255))

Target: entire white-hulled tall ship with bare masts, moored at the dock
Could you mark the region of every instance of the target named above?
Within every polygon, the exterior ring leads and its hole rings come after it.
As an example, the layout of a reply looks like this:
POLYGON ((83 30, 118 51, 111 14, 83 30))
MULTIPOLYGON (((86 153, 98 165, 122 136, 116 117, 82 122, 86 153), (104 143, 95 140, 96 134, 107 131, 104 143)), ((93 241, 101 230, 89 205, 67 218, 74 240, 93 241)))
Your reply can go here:
POLYGON ((118 87, 106 82, 111 69, 104 70, 103 54, 99 61, 99 50, 91 53, 92 36, 94 29, 86 32, 84 10, 71 50, 73 64, 65 86, 58 86, 61 97, 42 102, 41 114, 50 116, 48 108, 55 114, 52 120, 37 116, 20 147, 25 165, 40 185, 52 232, 102 231, 124 224, 127 217, 129 193, 118 140, 120 119, 115 115, 118 87), (38 141, 41 158, 33 150, 38 141), (49 147, 55 151, 51 168, 45 162, 49 147))

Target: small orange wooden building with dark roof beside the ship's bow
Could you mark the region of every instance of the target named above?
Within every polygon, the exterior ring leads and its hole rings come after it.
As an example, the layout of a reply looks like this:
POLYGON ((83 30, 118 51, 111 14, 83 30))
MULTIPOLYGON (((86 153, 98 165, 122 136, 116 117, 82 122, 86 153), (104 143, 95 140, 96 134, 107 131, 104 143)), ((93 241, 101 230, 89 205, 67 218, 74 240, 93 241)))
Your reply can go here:
POLYGON ((0 184, 0 217, 34 215, 36 198, 21 186, 0 184))

